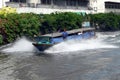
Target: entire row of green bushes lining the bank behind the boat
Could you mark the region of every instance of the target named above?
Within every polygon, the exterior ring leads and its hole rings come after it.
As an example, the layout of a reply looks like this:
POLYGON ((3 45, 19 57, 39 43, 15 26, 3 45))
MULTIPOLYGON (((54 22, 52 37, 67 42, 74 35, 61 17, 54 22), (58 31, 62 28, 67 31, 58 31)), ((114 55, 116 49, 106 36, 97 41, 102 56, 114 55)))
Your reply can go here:
POLYGON ((0 45, 13 42, 17 37, 41 35, 56 32, 59 29, 81 28, 83 21, 99 26, 102 31, 120 30, 120 15, 114 13, 80 15, 72 12, 33 14, 0 14, 0 45))

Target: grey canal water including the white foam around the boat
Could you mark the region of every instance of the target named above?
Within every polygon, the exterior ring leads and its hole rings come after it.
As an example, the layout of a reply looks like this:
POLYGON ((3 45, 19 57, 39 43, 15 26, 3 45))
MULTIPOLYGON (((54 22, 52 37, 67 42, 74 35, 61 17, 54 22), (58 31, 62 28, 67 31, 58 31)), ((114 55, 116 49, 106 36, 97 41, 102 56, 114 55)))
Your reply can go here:
POLYGON ((0 47, 0 80, 120 80, 120 32, 39 52, 25 37, 0 47))

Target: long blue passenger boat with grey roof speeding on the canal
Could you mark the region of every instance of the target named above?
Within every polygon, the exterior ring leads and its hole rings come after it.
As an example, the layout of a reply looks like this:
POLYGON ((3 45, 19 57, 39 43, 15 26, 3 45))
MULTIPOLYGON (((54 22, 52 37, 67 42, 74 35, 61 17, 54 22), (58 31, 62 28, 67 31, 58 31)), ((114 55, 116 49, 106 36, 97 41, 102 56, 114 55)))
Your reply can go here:
POLYGON ((81 28, 74 29, 70 31, 66 31, 67 35, 64 38, 63 33, 57 32, 52 34, 46 34, 37 36, 34 38, 34 42, 32 43, 39 51, 44 52, 44 50, 54 46, 57 43, 61 43, 65 40, 82 40, 89 39, 95 37, 95 29, 94 28, 81 28))

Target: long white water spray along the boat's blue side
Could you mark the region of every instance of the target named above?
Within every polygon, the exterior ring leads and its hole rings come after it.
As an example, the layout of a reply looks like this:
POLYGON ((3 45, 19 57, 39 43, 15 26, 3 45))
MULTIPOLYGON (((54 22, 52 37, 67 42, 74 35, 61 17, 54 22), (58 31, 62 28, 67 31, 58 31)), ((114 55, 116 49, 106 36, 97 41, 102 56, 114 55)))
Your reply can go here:
POLYGON ((83 50, 100 49, 100 48, 118 48, 117 46, 104 41, 109 37, 109 35, 104 36, 99 34, 97 36, 98 38, 96 39, 89 39, 82 41, 72 40, 72 41, 62 42, 46 50, 46 52, 60 53, 60 52, 83 51, 83 50))

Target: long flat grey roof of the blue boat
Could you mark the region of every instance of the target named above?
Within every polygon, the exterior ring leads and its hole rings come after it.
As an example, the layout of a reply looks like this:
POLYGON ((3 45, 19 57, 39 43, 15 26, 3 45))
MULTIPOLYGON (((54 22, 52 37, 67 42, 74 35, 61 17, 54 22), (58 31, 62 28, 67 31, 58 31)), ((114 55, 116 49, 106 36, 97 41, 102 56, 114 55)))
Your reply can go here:
MULTIPOLYGON (((95 28, 80 28, 80 29, 69 30, 69 31, 66 31, 66 32, 70 35, 70 34, 81 33, 81 32, 84 32, 84 31, 94 31, 94 30, 95 30, 95 28)), ((56 33, 51 33, 51 34, 45 34, 45 35, 42 35, 42 36, 60 37, 61 33, 60 32, 56 32, 56 33)))

